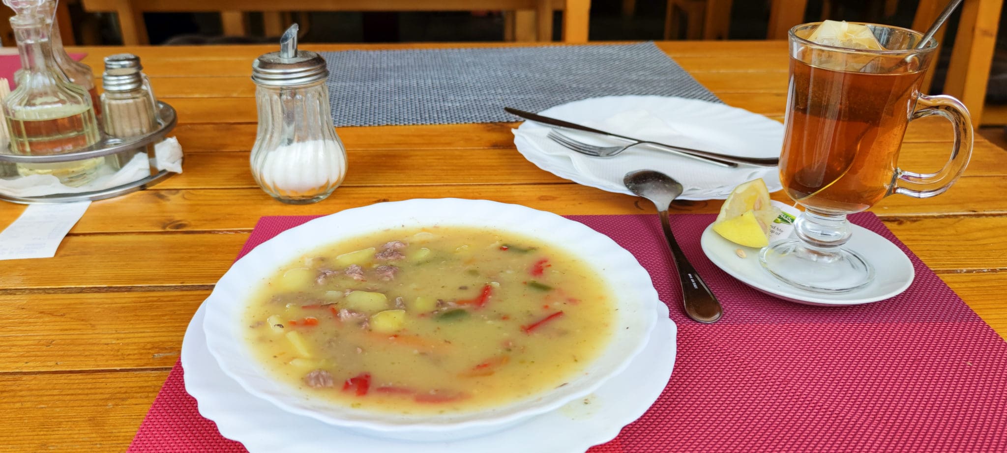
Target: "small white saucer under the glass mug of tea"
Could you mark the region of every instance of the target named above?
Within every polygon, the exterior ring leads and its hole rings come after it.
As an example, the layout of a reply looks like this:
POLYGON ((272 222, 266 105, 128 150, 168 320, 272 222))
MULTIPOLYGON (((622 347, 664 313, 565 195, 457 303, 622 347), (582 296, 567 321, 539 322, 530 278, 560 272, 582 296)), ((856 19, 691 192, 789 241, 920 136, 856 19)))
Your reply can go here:
POLYGON ((770 275, 759 263, 758 249, 738 246, 707 226, 700 245, 707 258, 724 272, 756 290, 783 300, 806 305, 827 307, 860 305, 897 296, 912 283, 916 273, 909 257, 897 246, 863 226, 853 224, 853 236, 846 247, 859 253, 874 266, 874 281, 867 286, 843 294, 824 294, 787 285, 770 275), (745 252, 745 258, 735 250, 745 252))

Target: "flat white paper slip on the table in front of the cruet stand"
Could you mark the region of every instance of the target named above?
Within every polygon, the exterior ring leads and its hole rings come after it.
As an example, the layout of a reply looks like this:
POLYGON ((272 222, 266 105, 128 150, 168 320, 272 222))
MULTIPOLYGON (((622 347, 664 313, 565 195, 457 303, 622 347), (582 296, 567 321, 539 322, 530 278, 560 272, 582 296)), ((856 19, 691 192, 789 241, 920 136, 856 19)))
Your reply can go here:
POLYGON ((54 257, 59 243, 90 205, 91 201, 28 205, 0 232, 0 260, 54 257))

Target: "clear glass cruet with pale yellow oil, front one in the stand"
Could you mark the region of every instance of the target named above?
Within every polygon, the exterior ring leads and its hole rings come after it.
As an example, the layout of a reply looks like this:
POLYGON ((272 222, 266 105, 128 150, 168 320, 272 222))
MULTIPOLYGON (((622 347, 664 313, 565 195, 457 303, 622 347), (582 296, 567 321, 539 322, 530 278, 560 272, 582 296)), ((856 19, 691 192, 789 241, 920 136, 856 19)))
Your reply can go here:
MULTIPOLYGON (((52 58, 49 27, 51 0, 3 0, 15 11, 10 18, 23 76, 3 101, 10 131, 10 152, 22 155, 65 154, 100 139, 91 94, 69 82, 52 58)), ((51 174, 63 184, 90 182, 104 158, 73 162, 18 164, 18 173, 51 174)))

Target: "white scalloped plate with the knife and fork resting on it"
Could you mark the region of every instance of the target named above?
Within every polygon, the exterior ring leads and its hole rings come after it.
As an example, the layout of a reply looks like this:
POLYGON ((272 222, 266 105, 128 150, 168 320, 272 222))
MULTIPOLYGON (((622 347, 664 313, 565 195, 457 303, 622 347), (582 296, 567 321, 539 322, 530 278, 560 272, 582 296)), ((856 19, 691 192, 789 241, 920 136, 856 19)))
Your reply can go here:
MULTIPOLYGON (((779 157, 783 125, 746 110, 706 101, 660 96, 609 96, 563 104, 542 115, 629 137, 650 139, 743 157, 779 157)), ((776 167, 742 165, 723 168, 674 154, 632 148, 613 158, 577 154, 547 139, 549 128, 526 121, 515 130, 515 146, 539 168, 574 182, 631 194, 622 176, 652 169, 685 186, 680 199, 723 199, 734 186, 762 178, 770 192, 779 190, 776 167)), ((563 132, 595 144, 625 144, 596 134, 563 132)))

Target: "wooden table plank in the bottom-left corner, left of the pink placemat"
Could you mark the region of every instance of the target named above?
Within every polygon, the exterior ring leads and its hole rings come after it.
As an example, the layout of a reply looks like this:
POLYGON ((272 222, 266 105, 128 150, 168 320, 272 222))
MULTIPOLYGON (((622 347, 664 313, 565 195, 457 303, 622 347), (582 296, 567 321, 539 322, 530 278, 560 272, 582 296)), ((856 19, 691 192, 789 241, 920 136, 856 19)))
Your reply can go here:
POLYGON ((0 375, 0 451, 125 451, 167 375, 0 375))

